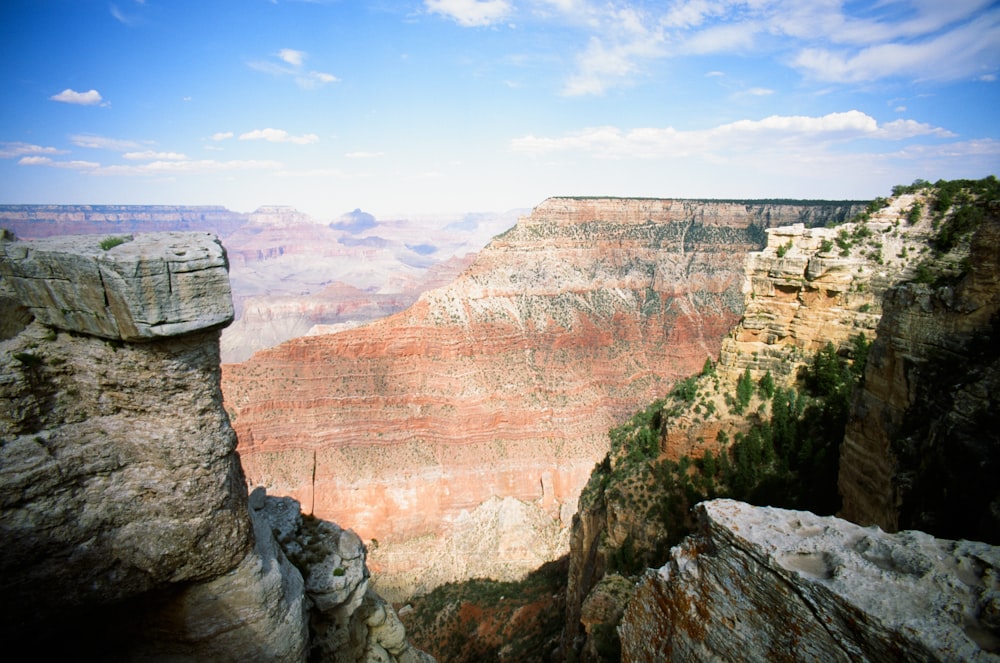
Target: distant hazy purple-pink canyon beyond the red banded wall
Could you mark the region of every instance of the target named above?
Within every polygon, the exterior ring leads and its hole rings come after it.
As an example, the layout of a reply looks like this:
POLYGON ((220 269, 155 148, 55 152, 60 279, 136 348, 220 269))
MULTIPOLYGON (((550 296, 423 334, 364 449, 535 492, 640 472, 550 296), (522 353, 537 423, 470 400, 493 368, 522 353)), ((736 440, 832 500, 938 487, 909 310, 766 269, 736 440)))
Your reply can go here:
POLYGON ((0 205, 0 228, 22 239, 201 231, 226 247, 235 319, 224 362, 313 330, 401 311, 444 285, 515 213, 376 219, 354 210, 322 223, 290 207, 251 213, 168 205, 0 205))

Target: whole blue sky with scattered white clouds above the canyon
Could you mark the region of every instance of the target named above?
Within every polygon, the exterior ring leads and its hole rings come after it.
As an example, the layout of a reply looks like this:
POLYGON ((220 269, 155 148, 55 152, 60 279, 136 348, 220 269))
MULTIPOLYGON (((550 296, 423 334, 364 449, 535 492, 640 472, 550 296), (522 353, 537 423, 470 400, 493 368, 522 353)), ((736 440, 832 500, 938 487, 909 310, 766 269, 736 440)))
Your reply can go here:
POLYGON ((859 198, 1000 173, 1000 3, 4 0, 0 203, 859 198))

